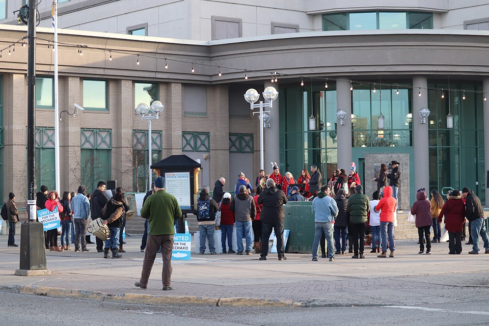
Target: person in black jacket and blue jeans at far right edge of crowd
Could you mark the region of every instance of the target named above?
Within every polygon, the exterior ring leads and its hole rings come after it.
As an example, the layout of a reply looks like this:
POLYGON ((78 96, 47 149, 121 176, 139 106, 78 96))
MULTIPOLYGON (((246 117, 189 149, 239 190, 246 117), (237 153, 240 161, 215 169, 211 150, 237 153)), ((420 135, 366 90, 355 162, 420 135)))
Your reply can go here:
POLYGON ((462 189, 461 196, 465 198, 465 212, 467 220, 470 222, 470 235, 473 242, 472 251, 469 254, 477 255, 479 253, 479 235, 484 242, 484 253, 489 254, 489 239, 487 238, 485 216, 480 199, 468 187, 462 189))

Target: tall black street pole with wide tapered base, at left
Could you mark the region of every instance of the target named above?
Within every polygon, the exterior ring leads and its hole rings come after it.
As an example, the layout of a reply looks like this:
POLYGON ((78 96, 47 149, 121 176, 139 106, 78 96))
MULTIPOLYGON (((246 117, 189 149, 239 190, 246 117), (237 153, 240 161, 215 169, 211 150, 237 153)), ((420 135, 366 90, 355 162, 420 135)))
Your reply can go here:
POLYGON ((20 229, 20 267, 15 275, 34 276, 50 274, 46 269, 43 225, 36 222, 36 22, 37 0, 29 0, 28 57, 27 57, 27 181, 28 214, 30 223, 20 229))

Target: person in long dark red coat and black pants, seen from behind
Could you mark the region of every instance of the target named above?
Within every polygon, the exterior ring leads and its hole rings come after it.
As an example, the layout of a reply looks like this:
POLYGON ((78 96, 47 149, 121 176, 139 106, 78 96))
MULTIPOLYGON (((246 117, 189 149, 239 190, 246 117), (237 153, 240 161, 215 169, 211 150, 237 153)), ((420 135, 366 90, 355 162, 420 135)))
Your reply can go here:
POLYGON ((445 216, 445 229, 448 231, 448 253, 459 255, 462 252, 462 228, 465 225, 465 204, 458 190, 452 190, 438 215, 441 223, 445 216))

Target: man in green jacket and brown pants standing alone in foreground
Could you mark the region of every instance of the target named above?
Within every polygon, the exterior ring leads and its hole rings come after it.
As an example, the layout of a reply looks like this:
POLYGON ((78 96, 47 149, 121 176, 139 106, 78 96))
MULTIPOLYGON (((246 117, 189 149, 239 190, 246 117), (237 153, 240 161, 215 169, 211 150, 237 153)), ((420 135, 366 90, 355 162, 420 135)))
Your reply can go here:
POLYGON ((172 250, 173 235, 175 234, 173 225, 175 220, 181 218, 182 211, 177 199, 165 191, 165 178, 157 177, 154 180, 155 193, 148 197, 141 208, 141 217, 148 219, 148 242, 144 254, 143 271, 141 279, 134 283, 142 289, 148 285, 149 275, 153 268, 154 259, 158 248, 161 246, 161 256, 163 256, 162 282, 163 290, 172 290, 170 286, 172 278, 172 250))

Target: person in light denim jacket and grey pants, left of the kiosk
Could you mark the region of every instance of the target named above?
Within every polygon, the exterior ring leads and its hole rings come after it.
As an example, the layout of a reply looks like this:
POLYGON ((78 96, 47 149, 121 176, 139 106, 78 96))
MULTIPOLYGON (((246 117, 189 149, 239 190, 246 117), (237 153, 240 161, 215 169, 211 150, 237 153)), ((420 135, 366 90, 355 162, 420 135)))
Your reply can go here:
POLYGON ((75 252, 89 251, 87 249, 87 227, 90 218, 90 201, 82 191, 87 187, 82 184, 78 187, 78 194, 71 199, 73 210, 73 226, 75 229, 75 252), (81 246, 81 247, 80 247, 81 246))

